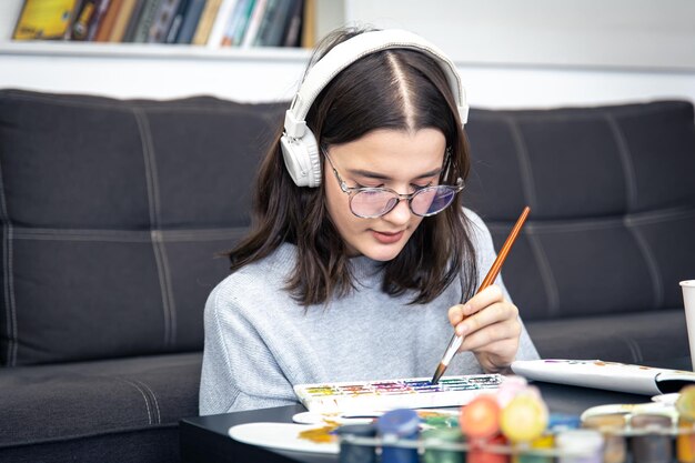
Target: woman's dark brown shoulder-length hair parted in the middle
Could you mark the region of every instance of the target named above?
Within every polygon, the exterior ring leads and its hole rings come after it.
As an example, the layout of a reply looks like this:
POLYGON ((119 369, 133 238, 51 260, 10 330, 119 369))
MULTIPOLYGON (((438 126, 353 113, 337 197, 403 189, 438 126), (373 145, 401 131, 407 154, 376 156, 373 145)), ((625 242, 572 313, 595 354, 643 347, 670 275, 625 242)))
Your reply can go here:
MULTIPOLYGON (((369 30, 374 29, 346 28, 328 36, 306 72, 333 47, 369 30)), ((387 49, 350 64, 314 100, 306 124, 323 148, 376 129, 434 128, 444 133, 449 153, 441 182, 454 184, 469 174, 467 141, 451 88, 436 61, 420 51, 387 49), (414 108, 410 114, 403 88, 414 108)), ((345 244, 329 217, 323 182, 319 188, 300 188, 286 172, 281 134, 282 127, 255 179, 251 231, 228 253, 231 270, 268 256, 282 243, 295 244, 298 261, 285 290, 304 306, 328 303, 354 289, 345 244)), ((456 279, 462 301, 472 296, 477 269, 461 194, 443 212, 424 218, 399 255, 381 265, 382 290, 392 295, 412 291, 411 303, 432 301, 456 279)))

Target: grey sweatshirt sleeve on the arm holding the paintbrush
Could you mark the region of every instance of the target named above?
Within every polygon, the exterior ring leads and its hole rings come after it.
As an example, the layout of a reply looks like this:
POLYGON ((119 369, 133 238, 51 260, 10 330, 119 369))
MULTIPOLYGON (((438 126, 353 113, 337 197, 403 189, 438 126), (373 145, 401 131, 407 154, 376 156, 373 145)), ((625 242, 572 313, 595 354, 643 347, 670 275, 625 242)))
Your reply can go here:
MULTIPOLYGON (((475 251, 477 253, 477 271, 479 271, 479 284, 485 279, 487 271, 492 266, 495 261, 497 254, 495 252, 494 243, 492 240, 492 234, 490 230, 477 214, 473 211, 465 209, 465 214, 470 219, 472 224, 473 232, 473 242, 475 243, 475 251)), ((494 284, 498 285, 502 290, 504 298, 507 301, 513 301, 508 291, 506 290, 504 282, 502 280, 502 273, 504 273, 504 268, 500 272, 500 275, 495 280, 494 284)), ((526 326, 522 320, 522 315, 524 313, 523 308, 518 308, 520 314, 520 323, 522 324, 522 333, 518 339, 518 350, 516 351, 516 360, 535 360, 540 359, 538 351, 536 350, 528 332, 526 331, 526 326)))

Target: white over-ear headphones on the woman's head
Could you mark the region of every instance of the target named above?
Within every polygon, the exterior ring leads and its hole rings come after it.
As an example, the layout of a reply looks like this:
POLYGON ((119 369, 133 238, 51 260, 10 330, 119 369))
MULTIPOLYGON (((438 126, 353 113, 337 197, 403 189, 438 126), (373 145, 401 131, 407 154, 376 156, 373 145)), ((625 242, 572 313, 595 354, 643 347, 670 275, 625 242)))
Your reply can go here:
POLYGON ((465 90, 454 63, 434 44, 404 30, 364 32, 335 46, 316 64, 302 82, 290 109, 285 112, 284 133, 280 139, 284 163, 299 187, 321 184, 321 159, 316 138, 306 127, 306 113, 323 88, 340 71, 362 57, 385 50, 405 48, 420 50, 440 64, 454 94, 461 122, 466 123, 469 105, 465 90))

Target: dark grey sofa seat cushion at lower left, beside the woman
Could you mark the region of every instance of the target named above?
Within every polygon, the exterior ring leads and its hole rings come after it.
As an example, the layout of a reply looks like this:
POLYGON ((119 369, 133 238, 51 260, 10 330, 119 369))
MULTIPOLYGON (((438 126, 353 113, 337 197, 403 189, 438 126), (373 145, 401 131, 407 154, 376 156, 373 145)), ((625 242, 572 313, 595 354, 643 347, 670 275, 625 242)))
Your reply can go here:
POLYGON ((0 369, 0 455, 175 427, 198 415, 201 362, 200 353, 181 353, 0 369))

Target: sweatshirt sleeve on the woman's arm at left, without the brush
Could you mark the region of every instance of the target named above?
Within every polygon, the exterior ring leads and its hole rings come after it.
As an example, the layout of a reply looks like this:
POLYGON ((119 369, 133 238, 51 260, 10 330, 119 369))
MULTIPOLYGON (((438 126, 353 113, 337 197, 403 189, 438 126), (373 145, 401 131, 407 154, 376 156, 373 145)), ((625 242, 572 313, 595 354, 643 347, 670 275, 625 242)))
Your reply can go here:
POLYGON ((258 330, 243 316, 244 308, 229 286, 221 283, 205 304, 200 414, 296 403, 291 383, 258 330))

